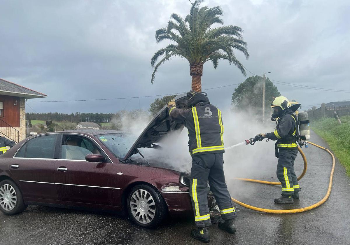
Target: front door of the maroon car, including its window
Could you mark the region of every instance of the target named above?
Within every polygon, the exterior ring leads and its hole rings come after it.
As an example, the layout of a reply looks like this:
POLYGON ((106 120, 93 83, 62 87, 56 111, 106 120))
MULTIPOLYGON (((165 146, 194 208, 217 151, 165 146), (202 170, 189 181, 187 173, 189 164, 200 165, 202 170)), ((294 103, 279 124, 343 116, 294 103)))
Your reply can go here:
POLYGON ((55 182, 60 201, 65 205, 110 205, 112 162, 91 137, 63 134, 55 182), (106 156, 105 162, 87 162, 87 154, 106 156))

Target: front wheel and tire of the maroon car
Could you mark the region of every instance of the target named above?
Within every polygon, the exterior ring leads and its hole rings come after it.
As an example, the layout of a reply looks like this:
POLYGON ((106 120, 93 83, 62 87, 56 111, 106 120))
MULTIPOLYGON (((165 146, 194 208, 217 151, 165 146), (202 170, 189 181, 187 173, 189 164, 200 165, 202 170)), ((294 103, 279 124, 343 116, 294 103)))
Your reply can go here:
POLYGON ((127 209, 135 224, 144 228, 155 228, 166 218, 168 206, 158 190, 141 184, 131 189, 127 209))

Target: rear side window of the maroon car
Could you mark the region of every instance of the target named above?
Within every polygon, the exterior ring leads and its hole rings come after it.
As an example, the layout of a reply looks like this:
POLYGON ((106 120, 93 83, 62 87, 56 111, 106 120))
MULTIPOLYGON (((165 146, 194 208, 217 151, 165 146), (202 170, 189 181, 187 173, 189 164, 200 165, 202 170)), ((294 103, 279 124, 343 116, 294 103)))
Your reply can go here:
POLYGON ((28 140, 16 154, 17 158, 55 158, 56 134, 43 135, 28 140))

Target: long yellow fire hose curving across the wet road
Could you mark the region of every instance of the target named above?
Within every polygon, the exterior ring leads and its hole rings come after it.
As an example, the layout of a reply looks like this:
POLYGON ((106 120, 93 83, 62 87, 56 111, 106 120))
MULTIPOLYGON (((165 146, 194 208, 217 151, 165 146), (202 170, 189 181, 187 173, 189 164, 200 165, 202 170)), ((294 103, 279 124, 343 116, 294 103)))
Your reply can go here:
MULTIPOLYGON (((313 146, 316 146, 318 148, 321 148, 323 150, 325 150, 326 152, 328 152, 331 156, 332 156, 332 161, 333 161, 333 166, 332 166, 332 170, 330 172, 330 177, 329 177, 329 184, 328 184, 328 190, 327 190, 327 193, 326 195, 322 198, 321 201, 311 205, 311 206, 308 206, 308 207, 305 207, 305 208, 299 208, 299 209, 288 209, 288 210, 279 210, 279 209, 264 209, 264 208, 258 208, 258 207, 254 207, 254 206, 251 206, 251 205, 248 205, 248 204, 245 204, 243 202, 240 202, 238 200, 236 200, 235 198, 231 197, 232 201, 242 207, 245 207, 247 209, 252 209, 252 210, 255 210, 255 211, 259 211, 259 212, 264 212, 264 213, 269 213, 269 214, 295 214, 295 213, 301 213, 301 212, 305 212, 305 211, 309 211, 311 209, 314 209, 314 208, 317 208, 319 207, 320 205, 322 205, 329 197, 330 195, 330 191, 332 189, 332 181, 333 181, 333 174, 334 174, 334 168, 335 168, 335 158, 334 158, 334 155, 326 148, 322 147, 322 146, 319 146, 319 145, 316 145, 314 143, 311 143, 308 141, 309 144, 313 145, 313 146)), ((298 150, 303 158, 303 161, 304 161, 304 170, 303 172, 301 173, 301 175, 297 178, 298 180, 300 180, 306 173, 306 169, 307 169, 307 160, 306 160, 306 157, 305 157, 305 154, 303 153, 303 151, 300 149, 300 147, 298 147, 298 150)), ((244 179, 244 178, 234 178, 234 179, 237 179, 237 180, 243 180, 243 181, 249 181, 249 182, 255 182, 255 183, 262 183, 262 184, 271 184, 271 185, 280 185, 281 182, 270 182, 270 181, 262 181, 262 180, 253 180, 253 179, 244 179)))

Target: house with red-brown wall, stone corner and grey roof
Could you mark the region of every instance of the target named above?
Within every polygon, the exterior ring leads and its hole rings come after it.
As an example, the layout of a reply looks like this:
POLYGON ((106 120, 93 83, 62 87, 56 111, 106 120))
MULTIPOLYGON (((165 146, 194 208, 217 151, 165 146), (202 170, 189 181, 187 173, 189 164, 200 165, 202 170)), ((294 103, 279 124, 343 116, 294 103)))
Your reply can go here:
POLYGON ((0 78, 0 136, 18 143, 26 138, 26 101, 46 94, 0 78))

